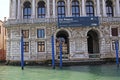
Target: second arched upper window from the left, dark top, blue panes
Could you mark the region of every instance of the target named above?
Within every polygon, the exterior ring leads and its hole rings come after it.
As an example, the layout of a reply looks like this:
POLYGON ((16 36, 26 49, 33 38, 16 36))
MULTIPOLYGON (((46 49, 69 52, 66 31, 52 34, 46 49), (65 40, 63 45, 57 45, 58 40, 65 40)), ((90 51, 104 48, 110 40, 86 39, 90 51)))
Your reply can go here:
POLYGON ((38 2, 38 18, 45 18, 45 2, 38 2))

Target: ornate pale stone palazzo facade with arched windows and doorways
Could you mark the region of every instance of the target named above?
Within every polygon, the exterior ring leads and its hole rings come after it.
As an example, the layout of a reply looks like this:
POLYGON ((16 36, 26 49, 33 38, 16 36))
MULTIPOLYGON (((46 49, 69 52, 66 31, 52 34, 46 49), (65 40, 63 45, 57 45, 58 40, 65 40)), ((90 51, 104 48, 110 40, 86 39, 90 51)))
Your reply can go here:
POLYGON ((114 43, 120 42, 120 0, 10 0, 10 17, 5 26, 6 60, 20 61, 22 35, 26 61, 51 60, 52 35, 56 60, 60 38, 65 60, 115 58, 114 43), (94 17, 98 18, 97 25, 58 25, 59 18, 79 18, 87 24, 85 18, 94 17))

